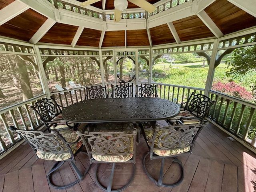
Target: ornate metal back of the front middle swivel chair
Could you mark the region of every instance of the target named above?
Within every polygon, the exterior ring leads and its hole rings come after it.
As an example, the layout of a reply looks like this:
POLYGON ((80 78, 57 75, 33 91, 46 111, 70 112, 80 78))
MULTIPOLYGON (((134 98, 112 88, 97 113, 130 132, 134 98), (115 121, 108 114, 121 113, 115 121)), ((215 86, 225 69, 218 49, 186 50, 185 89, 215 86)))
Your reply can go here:
POLYGON ((114 132, 77 132, 83 140, 87 153, 104 156, 133 154, 135 162, 137 129, 114 132))

